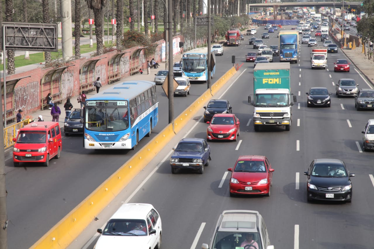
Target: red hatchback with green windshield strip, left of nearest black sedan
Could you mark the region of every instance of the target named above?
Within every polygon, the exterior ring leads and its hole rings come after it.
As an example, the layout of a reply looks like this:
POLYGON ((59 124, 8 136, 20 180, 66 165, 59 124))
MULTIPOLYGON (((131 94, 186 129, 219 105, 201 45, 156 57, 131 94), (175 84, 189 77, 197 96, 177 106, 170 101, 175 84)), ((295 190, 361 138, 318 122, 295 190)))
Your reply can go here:
POLYGON ((230 196, 235 194, 264 194, 270 196, 273 172, 266 156, 240 156, 230 177, 230 196))

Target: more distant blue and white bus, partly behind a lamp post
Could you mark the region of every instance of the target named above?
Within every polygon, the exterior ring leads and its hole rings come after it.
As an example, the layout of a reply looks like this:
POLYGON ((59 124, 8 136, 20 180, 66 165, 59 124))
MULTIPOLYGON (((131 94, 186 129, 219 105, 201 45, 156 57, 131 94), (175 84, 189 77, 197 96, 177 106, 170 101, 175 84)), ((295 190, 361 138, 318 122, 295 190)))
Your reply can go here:
POLYGON ((208 55, 208 47, 200 47, 192 49, 182 56, 182 76, 190 78, 192 81, 207 81, 208 80, 208 56, 211 58, 212 69, 211 79, 215 73, 215 53, 211 50, 208 55))

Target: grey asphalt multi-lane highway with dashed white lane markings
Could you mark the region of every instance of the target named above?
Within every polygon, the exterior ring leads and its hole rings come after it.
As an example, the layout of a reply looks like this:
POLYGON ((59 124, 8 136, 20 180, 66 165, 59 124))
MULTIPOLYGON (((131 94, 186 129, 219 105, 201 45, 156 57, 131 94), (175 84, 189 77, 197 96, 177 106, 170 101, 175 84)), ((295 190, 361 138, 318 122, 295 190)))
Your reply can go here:
MULTIPOLYGON (((255 36, 261 37, 263 32, 260 27, 255 36)), ((198 119, 191 121, 69 248, 93 248, 96 229, 104 226, 123 202, 151 203, 156 207, 162 218, 165 249, 195 249, 209 243, 218 215, 227 209, 258 210, 277 249, 373 248, 373 154, 363 152, 361 134, 373 111, 356 111, 353 98, 337 98, 334 84, 340 78, 352 78, 360 87, 369 86, 352 64, 350 73, 334 73, 333 62, 345 58, 341 51, 328 54, 327 70, 312 70, 310 47, 303 44, 300 61, 291 64, 291 92, 298 100, 292 107, 291 130, 269 127, 254 132, 253 107, 247 101, 253 92, 253 63, 245 62, 244 57, 254 51, 248 45, 249 38, 245 36, 245 44, 239 47, 225 47, 224 55, 216 58, 216 79, 232 66, 231 55, 236 55, 239 65, 243 62, 218 94, 229 99, 240 120, 238 141, 209 142, 212 161, 203 175, 189 171, 171 174, 169 156, 178 140, 184 136, 206 137, 207 125, 202 122, 201 110, 196 114, 198 119), (334 93, 331 108, 306 107, 305 93, 312 86, 325 86, 334 93), (227 168, 245 154, 266 155, 272 163, 275 172, 270 197, 229 196, 227 168), (356 174, 352 178, 352 203, 307 203, 303 172, 315 158, 342 159, 350 172, 356 174)), ((264 42, 268 46, 278 44, 276 33, 264 42)), ((278 62, 279 57, 274 61, 278 62)), ((175 114, 205 89, 206 84, 193 84, 191 96, 175 98, 175 114)), ((166 97, 161 88, 158 93, 160 123, 154 133, 168 120, 166 97)), ((140 145, 148 141, 143 139, 140 145)), ((134 151, 87 151, 82 148, 80 137, 67 137, 63 140, 61 159, 52 160, 48 168, 13 168, 10 161, 6 162, 8 248, 31 246, 133 154, 134 151)))

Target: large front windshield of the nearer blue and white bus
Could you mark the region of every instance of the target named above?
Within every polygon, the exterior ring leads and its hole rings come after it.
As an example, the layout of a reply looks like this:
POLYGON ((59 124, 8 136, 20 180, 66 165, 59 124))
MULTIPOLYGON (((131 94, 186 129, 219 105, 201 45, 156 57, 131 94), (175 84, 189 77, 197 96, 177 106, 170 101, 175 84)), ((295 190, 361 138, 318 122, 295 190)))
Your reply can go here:
POLYGON ((129 127, 127 107, 86 107, 86 129, 92 131, 120 131, 129 127))

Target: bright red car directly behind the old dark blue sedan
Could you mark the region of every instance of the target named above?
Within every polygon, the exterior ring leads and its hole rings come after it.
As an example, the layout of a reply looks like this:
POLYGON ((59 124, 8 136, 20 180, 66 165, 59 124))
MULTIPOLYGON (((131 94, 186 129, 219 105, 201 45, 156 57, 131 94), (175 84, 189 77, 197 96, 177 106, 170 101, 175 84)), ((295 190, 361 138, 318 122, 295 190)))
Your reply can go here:
POLYGON ((206 138, 208 140, 233 140, 239 136, 239 119, 235 114, 231 113, 217 113, 214 114, 212 120, 206 122, 209 124, 206 131, 206 138))

